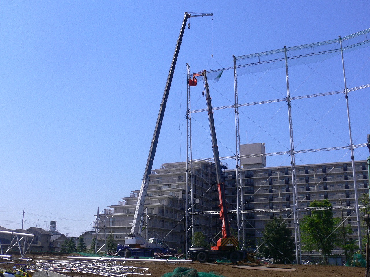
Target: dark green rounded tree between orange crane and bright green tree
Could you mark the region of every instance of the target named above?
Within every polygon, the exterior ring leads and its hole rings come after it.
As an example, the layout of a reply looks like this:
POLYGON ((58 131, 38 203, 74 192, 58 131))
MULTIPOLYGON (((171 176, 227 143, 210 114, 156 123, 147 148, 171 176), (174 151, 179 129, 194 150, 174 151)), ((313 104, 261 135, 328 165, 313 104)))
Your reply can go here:
POLYGON ((262 236, 258 247, 260 256, 272 258, 277 264, 292 263, 295 253, 294 239, 282 217, 267 223, 262 236))

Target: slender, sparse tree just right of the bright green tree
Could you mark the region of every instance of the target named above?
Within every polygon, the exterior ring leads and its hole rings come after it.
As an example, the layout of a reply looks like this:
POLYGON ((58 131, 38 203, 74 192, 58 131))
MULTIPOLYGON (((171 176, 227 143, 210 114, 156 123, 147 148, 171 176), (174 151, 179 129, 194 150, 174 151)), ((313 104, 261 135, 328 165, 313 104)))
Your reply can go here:
MULTIPOLYGON (((339 199, 339 204, 343 206, 343 200, 339 199)), ((341 247, 346 261, 351 261, 357 249, 357 240, 350 240, 349 236, 353 233, 352 227, 346 224, 346 216, 343 209, 340 210, 339 228, 337 229, 337 246, 341 247)))

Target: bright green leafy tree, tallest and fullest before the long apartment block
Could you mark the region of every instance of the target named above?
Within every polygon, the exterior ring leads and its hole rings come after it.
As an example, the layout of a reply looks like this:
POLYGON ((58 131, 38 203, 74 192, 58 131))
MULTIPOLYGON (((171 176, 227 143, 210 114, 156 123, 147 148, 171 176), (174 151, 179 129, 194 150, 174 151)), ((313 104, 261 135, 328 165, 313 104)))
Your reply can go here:
MULTIPOLYGON (((314 200, 310 204, 310 208, 331 206, 332 204, 327 199, 314 200)), ((321 250, 325 264, 328 263, 328 256, 336 244, 337 222, 338 220, 333 218, 331 209, 312 211, 311 215, 305 215, 301 220, 303 249, 307 251, 321 250)))

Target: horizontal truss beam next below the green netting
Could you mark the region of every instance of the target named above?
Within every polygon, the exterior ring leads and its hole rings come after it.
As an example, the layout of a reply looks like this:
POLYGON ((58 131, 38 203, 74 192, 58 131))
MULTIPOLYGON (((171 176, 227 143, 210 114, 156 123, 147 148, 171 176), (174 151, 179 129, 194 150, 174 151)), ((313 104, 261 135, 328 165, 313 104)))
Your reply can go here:
MULTIPOLYGON (((359 89, 369 88, 370 84, 366 84, 363 86, 356 86, 354 88, 347 89, 347 92, 352 92, 359 89)), ((290 97, 290 100, 296 100, 296 99, 305 99, 305 98, 312 98, 312 97, 318 97, 318 96, 327 96, 327 95, 335 95, 335 94, 344 94, 345 91, 343 90, 337 90, 337 91, 331 91, 331 92, 323 92, 323 93, 315 93, 315 94, 309 94, 309 95, 302 95, 302 96, 295 96, 290 97)), ((246 107, 246 106, 253 106, 253 105, 260 105, 260 104, 267 104, 267 103, 276 103, 276 102, 284 102, 287 101, 287 98, 279 98, 279 99, 272 99, 272 100, 266 100, 266 101, 259 101, 259 102, 251 102, 251 103, 245 103, 245 104, 238 104, 238 107, 246 107)), ((235 105, 228 105, 228 106, 221 106, 221 107, 215 107, 213 110, 222 110, 222 109, 234 109, 235 105)), ((199 110, 192 110, 189 111, 189 113, 200 113, 200 112, 206 112, 207 109, 199 109, 199 110)))

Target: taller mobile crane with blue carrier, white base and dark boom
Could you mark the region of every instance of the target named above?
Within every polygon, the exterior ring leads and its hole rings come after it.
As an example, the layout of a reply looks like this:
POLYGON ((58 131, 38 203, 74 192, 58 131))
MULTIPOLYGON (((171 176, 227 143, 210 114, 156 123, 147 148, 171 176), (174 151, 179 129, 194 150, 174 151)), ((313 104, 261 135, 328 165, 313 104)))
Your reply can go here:
MULTIPOLYGON (((168 78, 167 78, 165 90, 163 93, 161 107, 159 108, 157 123, 155 125, 152 143, 151 143, 150 150, 149 150, 147 165, 144 171, 144 176, 143 176, 144 178, 142 179, 142 182, 141 182, 141 188, 140 188, 140 192, 138 195, 137 205, 135 208, 134 219, 132 221, 131 232, 127 235, 127 237, 125 237, 125 244, 124 245, 119 244, 117 247, 118 253, 121 256, 123 255, 125 257, 152 256, 154 251, 162 252, 162 253, 169 253, 169 254, 172 254, 173 252, 176 253, 174 249, 167 249, 163 247, 163 243, 161 240, 159 240, 160 243, 158 243, 158 239, 152 238, 152 239, 149 239, 147 242, 144 239, 144 237, 141 236, 141 230, 142 230, 141 226, 142 226, 142 218, 143 218, 143 213, 144 213, 144 202, 145 202, 145 197, 147 196, 148 184, 149 184, 149 179, 150 179, 152 166, 154 162, 155 151, 157 150, 159 133, 161 131, 161 126, 162 126, 162 122, 164 118, 164 112, 165 112, 166 105, 167 105, 169 89, 171 88, 172 78, 174 76, 176 61, 177 61, 177 57, 180 51, 182 36, 184 35, 186 22, 188 21, 189 18, 203 17, 203 16, 213 16, 213 14, 212 13, 190 14, 186 12, 184 15, 184 20, 182 21, 179 38, 177 40, 176 47, 175 47, 174 57, 172 58, 171 67, 168 73, 168 78)), ((188 25, 188 28, 190 28, 190 23, 188 23, 187 25, 188 25)))

